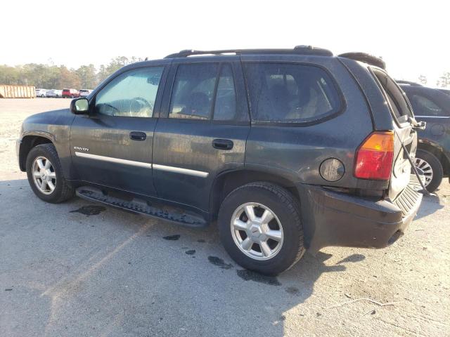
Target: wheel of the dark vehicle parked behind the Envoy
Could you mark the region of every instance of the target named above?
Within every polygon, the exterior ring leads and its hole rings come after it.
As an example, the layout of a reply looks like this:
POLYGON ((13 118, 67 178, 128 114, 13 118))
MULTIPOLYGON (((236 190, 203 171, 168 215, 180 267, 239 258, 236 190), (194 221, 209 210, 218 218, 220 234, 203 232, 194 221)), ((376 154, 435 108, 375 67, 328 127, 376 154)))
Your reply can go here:
POLYGON ((416 152, 416 168, 418 171, 422 171, 425 174, 425 187, 428 192, 435 192, 437 187, 441 185, 442 177, 444 176, 444 170, 442 164, 437 159, 435 154, 425 150, 417 150, 416 152), (432 178, 427 178, 432 176, 432 178))

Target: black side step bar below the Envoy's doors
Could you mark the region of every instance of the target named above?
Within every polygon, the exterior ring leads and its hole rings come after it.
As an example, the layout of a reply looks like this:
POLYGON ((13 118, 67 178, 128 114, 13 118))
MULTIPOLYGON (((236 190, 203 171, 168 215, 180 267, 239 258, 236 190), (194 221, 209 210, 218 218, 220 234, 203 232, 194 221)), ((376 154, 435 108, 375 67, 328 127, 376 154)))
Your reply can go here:
POLYGON ((117 209, 122 209, 124 211, 130 211, 132 213, 142 214, 144 216, 151 216, 153 218, 159 218, 162 220, 168 220, 173 223, 178 223, 180 225, 188 227, 206 227, 207 222, 200 216, 194 216, 192 214, 181 211, 174 207, 165 206, 164 208, 160 205, 150 204, 149 202, 133 199, 127 201, 117 197, 108 196, 108 194, 103 194, 101 190, 93 187, 78 187, 76 190, 77 196, 89 201, 98 201, 108 206, 113 206, 117 209))

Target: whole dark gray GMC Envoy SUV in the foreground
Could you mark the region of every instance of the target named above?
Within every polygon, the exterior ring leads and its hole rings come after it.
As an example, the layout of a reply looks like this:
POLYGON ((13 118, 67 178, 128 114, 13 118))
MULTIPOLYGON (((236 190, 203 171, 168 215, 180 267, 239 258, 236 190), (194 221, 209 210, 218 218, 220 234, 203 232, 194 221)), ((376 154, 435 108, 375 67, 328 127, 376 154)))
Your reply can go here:
POLYGON ((293 49, 181 51, 127 65, 69 110, 27 118, 20 169, 75 193, 201 227, 266 275, 306 249, 382 248, 411 221, 416 123, 383 60, 293 49))

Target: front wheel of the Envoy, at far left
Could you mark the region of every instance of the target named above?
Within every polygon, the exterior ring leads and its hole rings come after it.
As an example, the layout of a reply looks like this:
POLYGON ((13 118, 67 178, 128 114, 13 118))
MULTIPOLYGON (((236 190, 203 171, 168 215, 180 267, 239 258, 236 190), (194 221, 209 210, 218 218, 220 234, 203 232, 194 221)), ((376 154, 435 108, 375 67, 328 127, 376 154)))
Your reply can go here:
POLYGON ((30 187, 39 199, 52 204, 58 204, 74 196, 75 191, 63 177, 63 169, 61 168, 58 153, 53 144, 41 144, 33 147, 30 153, 28 153, 26 167, 28 183, 30 183, 30 187), (34 167, 36 169, 39 167, 39 159, 41 160, 40 164, 46 164, 47 160, 50 161, 50 166, 48 169, 42 170, 44 171, 44 176, 37 178, 36 181, 34 180, 33 173, 35 171, 34 167), (46 172, 50 173, 45 176, 46 172), (50 176, 54 176, 54 180, 49 178, 50 176), (41 185, 43 179, 49 180, 44 184, 46 185, 46 191, 38 187, 38 185, 41 185), (53 190, 51 190, 51 185, 53 185, 53 190))

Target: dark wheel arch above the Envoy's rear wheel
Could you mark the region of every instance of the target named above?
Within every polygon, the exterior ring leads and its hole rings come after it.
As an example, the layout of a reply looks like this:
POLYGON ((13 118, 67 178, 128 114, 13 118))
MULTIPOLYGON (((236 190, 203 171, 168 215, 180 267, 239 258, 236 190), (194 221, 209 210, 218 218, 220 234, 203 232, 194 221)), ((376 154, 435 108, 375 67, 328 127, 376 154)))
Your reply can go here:
POLYGON ((259 171, 256 169, 240 169, 236 171, 226 171, 220 173, 215 179, 210 192, 210 216, 211 220, 217 220, 217 214, 221 202, 225 197, 237 187, 262 181, 266 183, 273 183, 281 186, 291 192, 295 199, 300 201, 300 194, 298 193, 295 180, 287 178, 281 174, 274 174, 267 171, 259 171))

